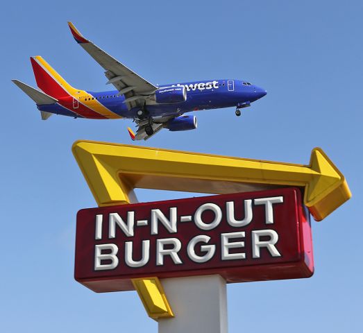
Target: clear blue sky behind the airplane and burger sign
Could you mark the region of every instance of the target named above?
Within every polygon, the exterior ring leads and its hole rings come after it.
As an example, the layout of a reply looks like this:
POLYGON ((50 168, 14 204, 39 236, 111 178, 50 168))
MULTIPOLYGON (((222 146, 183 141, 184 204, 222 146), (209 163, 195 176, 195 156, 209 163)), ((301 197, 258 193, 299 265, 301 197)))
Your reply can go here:
MULTIPOLYGON (((106 89, 71 20, 152 83, 243 78, 268 94, 235 117, 197 112, 198 130, 145 146, 307 164, 320 146, 353 198, 313 224, 307 280, 228 286, 230 332, 358 332, 362 316, 362 1, 5 1, 1 5, 1 332, 157 332, 135 292, 96 294, 73 278, 76 212, 96 203, 76 139, 130 144, 131 122, 41 121, 15 85, 41 55, 72 85, 106 89)), ((180 197, 139 191, 140 200, 180 197)))

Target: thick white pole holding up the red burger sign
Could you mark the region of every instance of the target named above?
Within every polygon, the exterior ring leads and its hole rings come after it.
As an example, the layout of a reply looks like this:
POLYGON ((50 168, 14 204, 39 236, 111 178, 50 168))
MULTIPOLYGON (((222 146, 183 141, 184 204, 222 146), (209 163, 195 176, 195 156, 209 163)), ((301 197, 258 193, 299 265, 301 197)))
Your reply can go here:
POLYGON ((161 280, 174 318, 160 318, 158 333, 227 333, 226 281, 220 275, 161 280))

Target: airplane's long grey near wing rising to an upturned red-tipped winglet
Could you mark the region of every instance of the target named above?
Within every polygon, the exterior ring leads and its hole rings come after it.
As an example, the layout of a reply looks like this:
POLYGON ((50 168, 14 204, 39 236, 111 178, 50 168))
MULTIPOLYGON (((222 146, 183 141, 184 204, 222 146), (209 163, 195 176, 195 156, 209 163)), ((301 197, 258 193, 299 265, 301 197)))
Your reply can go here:
POLYGON ((158 87, 155 87, 155 85, 101 50, 99 46, 85 39, 74 24, 68 22, 68 25, 76 42, 105 69, 108 84, 114 85, 119 90, 119 94, 125 95, 125 103, 129 110, 144 105, 145 96, 153 94, 158 89, 158 87))

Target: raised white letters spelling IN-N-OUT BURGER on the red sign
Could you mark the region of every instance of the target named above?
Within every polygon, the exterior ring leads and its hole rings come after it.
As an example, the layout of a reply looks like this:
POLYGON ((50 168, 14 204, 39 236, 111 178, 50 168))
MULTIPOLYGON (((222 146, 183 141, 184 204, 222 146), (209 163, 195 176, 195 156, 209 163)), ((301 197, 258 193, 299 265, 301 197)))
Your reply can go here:
MULTIPOLYGON (((244 219, 237 220, 235 218, 235 203, 233 201, 226 202, 226 221, 234 228, 242 228, 251 223, 253 219, 252 202, 255 205, 264 205, 266 218, 266 225, 273 223, 273 204, 283 203, 283 196, 276 196, 273 198, 258 198, 244 200, 244 219)), ((119 213, 109 213, 108 215, 108 235, 105 238, 115 239, 116 228, 119 228, 126 237, 135 236, 135 211, 128 211, 126 221, 122 219, 119 213)), ((178 233, 178 207, 169 208, 169 216, 165 216, 164 213, 157 209, 152 209, 150 219, 142 220, 142 225, 148 225, 150 221, 150 234, 159 234, 159 225, 165 228, 170 234, 178 233)), ((205 214, 206 215, 206 214, 205 214)), ((193 221, 195 226, 203 232, 203 230, 213 230, 218 227, 223 219, 223 213, 221 207, 215 203, 203 203, 193 215, 180 216, 179 221, 193 221), (203 221, 203 213, 211 212, 213 217, 212 221, 207 223, 203 221)), ((205 220, 205 218, 204 218, 205 220)), ((140 225, 140 221, 137 221, 140 225)), ((103 214, 96 215, 96 234, 95 239, 102 239, 102 223, 103 214)), ((244 239, 246 232, 223 232, 219 239, 221 243, 221 260, 232 260, 232 259, 246 259, 246 252, 230 253, 232 248, 244 248, 244 241, 236 241, 235 239, 244 239)), ((252 241, 252 257, 257 259, 260 258, 260 249, 266 248, 272 257, 280 257, 281 254, 276 248, 278 241, 278 234, 275 230, 252 230, 251 231, 252 241), (267 237, 266 240, 262 240, 262 237, 267 237)), ((135 261, 133 259, 133 248, 134 246, 140 246, 138 241, 125 241, 124 243, 124 264, 129 267, 142 267, 145 266, 150 260, 150 239, 142 241, 142 257, 135 261), (134 244, 136 243, 136 244, 134 244)), ((180 252, 183 244, 180 239, 176 237, 156 239, 156 266, 164 265, 164 257, 169 256, 174 264, 183 264, 178 253, 180 252)), ((210 244, 210 237, 208 234, 198 234, 189 240, 187 245, 187 259, 193 262, 202 263, 208 262, 216 254, 216 245, 210 244), (202 255, 196 254, 196 247, 199 246, 202 255)), ((119 265, 119 259, 117 253, 119 248, 116 244, 96 244, 95 245, 95 257, 94 257, 94 270, 109 270, 115 269, 119 265), (107 254, 103 254, 103 251, 108 251, 107 254), (106 260, 110 261, 110 264, 103 264, 106 260)))

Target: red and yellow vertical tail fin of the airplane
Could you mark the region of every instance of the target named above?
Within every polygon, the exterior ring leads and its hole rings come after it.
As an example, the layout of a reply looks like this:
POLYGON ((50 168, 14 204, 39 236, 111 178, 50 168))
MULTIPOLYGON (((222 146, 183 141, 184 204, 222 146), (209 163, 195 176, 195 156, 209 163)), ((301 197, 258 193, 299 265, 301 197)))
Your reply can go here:
POLYGON ((73 95, 77 89, 69 85, 41 56, 31 57, 37 86, 55 99, 73 95))

